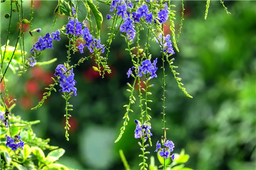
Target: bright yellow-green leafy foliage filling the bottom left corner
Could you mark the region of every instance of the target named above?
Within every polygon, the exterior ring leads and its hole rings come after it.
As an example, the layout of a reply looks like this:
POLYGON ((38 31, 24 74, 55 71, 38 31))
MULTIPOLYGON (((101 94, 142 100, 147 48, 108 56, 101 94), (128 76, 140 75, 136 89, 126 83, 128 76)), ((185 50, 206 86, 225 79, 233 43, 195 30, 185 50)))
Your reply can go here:
POLYGON ((1 167, 4 169, 68 169, 57 160, 63 156, 65 150, 56 146, 49 146, 49 139, 36 137, 31 129, 31 125, 38 121, 27 122, 19 116, 9 116, 11 126, 2 126, 1 124, 1 141, 6 141, 6 135, 14 136, 19 134, 24 141, 23 150, 18 148, 12 151, 11 148, 5 146, 5 142, 1 142, 1 167), (9 128, 11 134, 9 133, 9 128), (43 150, 52 150, 45 156, 43 150))

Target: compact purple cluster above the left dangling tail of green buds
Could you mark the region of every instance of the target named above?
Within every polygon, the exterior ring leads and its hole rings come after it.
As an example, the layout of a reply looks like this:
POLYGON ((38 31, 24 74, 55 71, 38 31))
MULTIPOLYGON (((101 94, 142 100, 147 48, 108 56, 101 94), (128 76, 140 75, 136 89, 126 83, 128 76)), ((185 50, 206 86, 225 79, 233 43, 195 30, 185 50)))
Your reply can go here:
POLYGON ((74 80, 75 74, 73 73, 73 69, 68 70, 64 65, 58 65, 55 69, 55 76, 60 76, 60 87, 62 88, 59 90, 60 92, 71 92, 76 96, 76 80, 74 80))

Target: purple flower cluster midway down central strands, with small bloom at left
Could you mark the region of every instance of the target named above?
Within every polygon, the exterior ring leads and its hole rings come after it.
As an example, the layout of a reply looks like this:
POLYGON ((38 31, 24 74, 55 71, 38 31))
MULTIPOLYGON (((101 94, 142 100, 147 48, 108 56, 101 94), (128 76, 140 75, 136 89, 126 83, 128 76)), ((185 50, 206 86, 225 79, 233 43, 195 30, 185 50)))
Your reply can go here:
MULTIPOLYGON (((141 66, 139 66, 139 71, 137 76, 142 77, 143 74, 147 74, 150 73, 151 76, 150 78, 154 78, 157 77, 157 75, 155 74, 156 70, 158 70, 158 67, 156 67, 156 63, 158 62, 158 58, 156 58, 153 63, 151 63, 150 59, 146 59, 144 61, 142 61, 141 66)), ((133 67, 134 69, 135 67, 133 67)), ((126 73, 128 78, 130 77, 131 74, 133 74, 133 71, 131 71, 131 69, 128 70, 128 72, 126 73)))

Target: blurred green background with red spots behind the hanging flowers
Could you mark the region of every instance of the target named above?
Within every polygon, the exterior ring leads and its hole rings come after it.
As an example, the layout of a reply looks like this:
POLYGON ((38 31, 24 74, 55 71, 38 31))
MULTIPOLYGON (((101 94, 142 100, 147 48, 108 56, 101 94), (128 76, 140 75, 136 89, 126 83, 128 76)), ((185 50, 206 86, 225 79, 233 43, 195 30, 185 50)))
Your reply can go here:
MULTIPOLYGON (((181 5, 177 7, 176 29, 179 28, 181 5)), ((211 1, 207 20, 204 20, 205 1, 185 1, 185 20, 178 42, 180 53, 175 54, 177 72, 183 78, 183 83, 193 99, 186 97, 177 87, 170 70, 167 71, 167 138, 175 143, 175 152, 182 148, 191 157, 187 167, 193 169, 255 169, 256 153, 256 109, 255 109, 255 67, 256 67, 256 2, 226 1, 225 5, 232 15, 227 15, 219 1, 211 1)), ((30 19, 30 2, 25 1, 24 18, 30 19)), ((28 33, 29 25, 24 27, 25 49, 28 52, 38 41, 39 35, 55 32, 67 24, 67 16, 57 16, 53 11, 57 1, 34 1, 35 11, 32 29, 42 28, 42 32, 28 33)), ((109 6, 100 5, 104 16, 101 42, 105 44, 111 21, 106 20, 110 14, 109 6)), ((1 3, 1 45, 5 44, 10 13, 10 2, 1 3)), ((14 15, 11 23, 9 45, 15 45, 18 34, 14 15)), ((170 33, 170 32, 166 32, 170 33)), ((142 33, 143 35, 143 33, 142 33)), ((143 38, 142 38, 143 39, 143 38)), ((54 50, 47 49, 38 61, 57 58, 55 63, 43 67, 31 67, 26 74, 18 77, 7 73, 7 87, 11 98, 17 99, 13 113, 22 116, 24 120, 40 120, 34 131, 38 137, 51 138, 51 145, 65 149, 65 155, 60 162, 75 169, 124 169, 118 150, 122 149, 131 169, 138 169, 141 159, 138 140, 134 139, 135 124, 139 118, 139 108, 133 105, 134 113, 130 114, 130 122, 121 141, 114 143, 122 126, 125 109, 122 105, 128 103, 126 91, 126 72, 132 66, 130 57, 125 51, 126 45, 122 37, 113 41, 109 65, 112 74, 101 79, 93 71, 93 61, 82 63, 74 70, 77 81, 77 96, 73 96, 72 125, 70 141, 64 136, 64 103, 59 92, 52 93, 43 107, 31 111, 44 92, 44 87, 51 83, 51 76, 58 64, 66 60, 67 37, 61 36, 61 41, 53 43, 54 50)), ((152 57, 160 57, 160 48, 151 42, 152 57)), ((72 55, 71 63, 79 58, 89 56, 72 55)), ((159 58, 160 59, 160 58, 159 58)), ((160 60, 159 60, 160 61, 160 60)), ((151 99, 152 108, 152 143, 149 148, 155 156, 155 143, 162 134, 162 108, 160 63, 158 79, 151 99)), ((156 161, 157 165, 160 165, 156 161)))

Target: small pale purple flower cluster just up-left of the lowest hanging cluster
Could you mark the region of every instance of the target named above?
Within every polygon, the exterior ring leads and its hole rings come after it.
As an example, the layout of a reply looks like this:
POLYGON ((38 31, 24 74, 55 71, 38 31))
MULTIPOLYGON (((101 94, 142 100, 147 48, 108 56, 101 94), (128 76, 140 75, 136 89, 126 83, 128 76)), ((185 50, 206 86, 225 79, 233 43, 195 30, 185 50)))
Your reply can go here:
POLYGON ((144 124, 141 124, 140 121, 137 119, 134 120, 136 125, 136 129, 134 131, 134 137, 135 138, 142 138, 147 139, 148 137, 152 136, 152 133, 150 132, 151 126, 148 125, 147 122, 144 122, 144 124))

